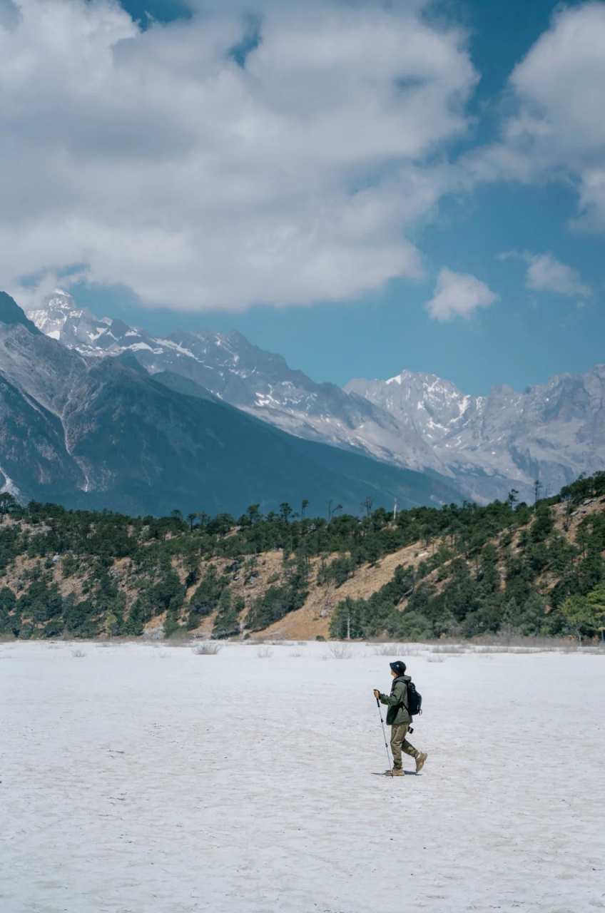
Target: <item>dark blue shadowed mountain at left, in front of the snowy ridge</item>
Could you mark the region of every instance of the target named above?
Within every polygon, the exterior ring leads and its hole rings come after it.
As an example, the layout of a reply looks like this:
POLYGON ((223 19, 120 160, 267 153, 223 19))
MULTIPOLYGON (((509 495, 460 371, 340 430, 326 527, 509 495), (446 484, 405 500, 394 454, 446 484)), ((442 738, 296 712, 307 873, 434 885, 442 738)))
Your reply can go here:
POLYGON ((239 516, 253 503, 265 513, 282 501, 297 509, 303 498, 317 514, 329 500, 358 513, 368 497, 389 508, 457 497, 439 477, 288 435, 183 373, 150 374, 142 350, 120 342, 140 337, 127 328, 121 336, 115 322, 98 321, 98 339, 115 333, 101 351, 114 357, 99 358, 78 334, 69 347, 44 323, 41 331, 0 293, 2 490, 139 515, 239 516))

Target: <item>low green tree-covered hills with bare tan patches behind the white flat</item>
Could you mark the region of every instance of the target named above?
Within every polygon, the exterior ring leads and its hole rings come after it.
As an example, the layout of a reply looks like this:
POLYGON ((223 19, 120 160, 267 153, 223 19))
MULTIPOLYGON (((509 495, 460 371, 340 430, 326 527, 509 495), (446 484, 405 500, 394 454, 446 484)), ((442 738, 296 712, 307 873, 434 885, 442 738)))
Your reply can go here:
POLYGON ((132 518, 0 495, 4 637, 602 637, 605 473, 506 501, 330 520, 132 518))

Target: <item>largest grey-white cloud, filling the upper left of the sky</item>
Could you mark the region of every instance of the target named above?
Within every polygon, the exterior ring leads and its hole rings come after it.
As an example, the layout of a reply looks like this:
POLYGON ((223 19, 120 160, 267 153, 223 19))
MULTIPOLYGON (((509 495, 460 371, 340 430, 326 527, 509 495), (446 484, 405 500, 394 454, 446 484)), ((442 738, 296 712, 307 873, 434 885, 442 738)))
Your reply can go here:
MULTIPOLYGON (((7 2, 7 0, 5 0, 7 2)), ((0 20, 0 283, 80 264, 143 301, 241 309, 418 276, 476 81, 422 4, 211 0, 141 32, 105 0, 0 20), (246 9, 249 9, 249 5, 246 9)), ((11 9, 15 5, 11 3, 11 9)))

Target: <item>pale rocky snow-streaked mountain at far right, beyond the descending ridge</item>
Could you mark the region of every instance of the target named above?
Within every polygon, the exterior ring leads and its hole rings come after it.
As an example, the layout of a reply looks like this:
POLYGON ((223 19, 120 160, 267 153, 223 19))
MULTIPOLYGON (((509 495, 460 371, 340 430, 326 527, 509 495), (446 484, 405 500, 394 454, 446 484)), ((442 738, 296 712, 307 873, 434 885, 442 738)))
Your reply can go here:
POLYGON ((410 371, 353 380, 345 390, 421 436, 478 498, 503 498, 511 485, 528 498, 536 479, 543 495, 554 494, 582 472, 605 469, 605 365, 556 375, 522 394, 497 386, 469 396, 434 374, 410 371))

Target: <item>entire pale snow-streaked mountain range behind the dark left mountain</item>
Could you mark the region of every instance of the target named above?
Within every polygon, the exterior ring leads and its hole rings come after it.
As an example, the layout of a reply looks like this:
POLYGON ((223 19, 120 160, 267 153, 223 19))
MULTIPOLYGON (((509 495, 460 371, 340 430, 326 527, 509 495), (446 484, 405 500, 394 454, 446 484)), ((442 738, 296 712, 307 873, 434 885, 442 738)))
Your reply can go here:
POLYGON ((169 372, 291 436, 362 453, 394 467, 449 480, 462 497, 505 498, 511 488, 554 493, 605 468, 605 366, 560 374, 515 393, 462 394, 433 374, 315 383, 281 355, 239 332, 152 336, 99 319, 65 292, 28 311, 38 330, 85 357, 132 352, 152 376, 169 372))

